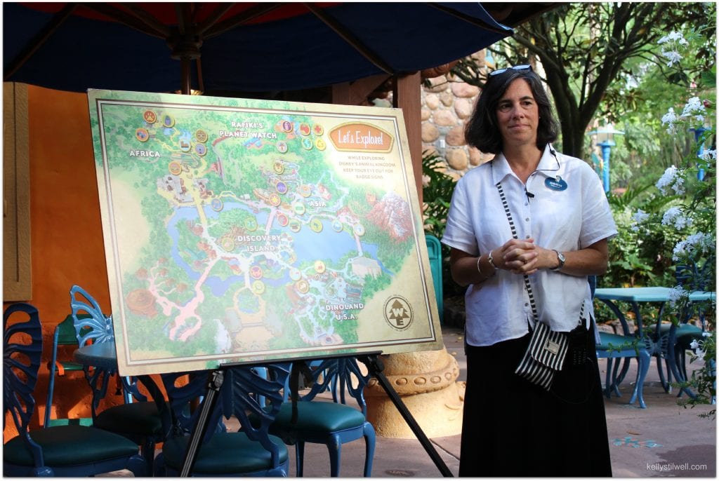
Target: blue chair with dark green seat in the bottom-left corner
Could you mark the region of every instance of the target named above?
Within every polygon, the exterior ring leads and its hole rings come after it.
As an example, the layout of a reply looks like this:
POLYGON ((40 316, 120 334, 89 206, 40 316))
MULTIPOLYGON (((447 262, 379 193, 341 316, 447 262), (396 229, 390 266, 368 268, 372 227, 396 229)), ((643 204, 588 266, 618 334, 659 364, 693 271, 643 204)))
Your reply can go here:
POLYGON ((137 444, 119 434, 80 425, 29 431, 42 356, 40 315, 32 305, 17 303, 3 317, 3 412, 12 414, 19 433, 3 446, 3 475, 86 477, 127 469, 145 476, 147 463, 137 444))

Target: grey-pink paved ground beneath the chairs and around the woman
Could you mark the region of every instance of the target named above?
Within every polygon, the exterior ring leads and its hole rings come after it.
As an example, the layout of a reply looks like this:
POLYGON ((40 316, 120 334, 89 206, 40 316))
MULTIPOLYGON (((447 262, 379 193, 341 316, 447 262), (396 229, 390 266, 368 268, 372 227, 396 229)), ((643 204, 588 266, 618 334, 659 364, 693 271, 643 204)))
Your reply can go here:
MULTIPOLYGON (((466 363, 462 332, 445 327, 444 345, 457 358, 459 380, 464 380, 466 363)), ((633 363, 634 364, 634 363, 633 363)), ((600 360, 604 370, 605 360, 600 360)), ((697 416, 713 406, 683 408, 677 406, 676 393, 665 393, 659 384, 656 360, 652 360, 644 385, 646 409, 628 404, 636 376, 631 368, 623 383, 622 396, 605 400, 610 453, 614 477, 716 477, 716 425, 713 419, 697 416)), ((459 434, 431 439, 432 446, 457 476, 459 470, 459 434)), ((292 449, 292 448, 290 448, 292 449)), ((308 444, 305 452, 305 477, 329 477, 326 447, 308 444)), ((293 450, 290 450, 293 458, 293 450)), ((365 444, 362 440, 342 446, 342 477, 362 477, 365 444)), ((295 473, 290 461, 290 476, 295 473)), ((111 473, 126 476, 127 472, 111 473)), ((426 449, 417 439, 377 438, 372 468, 373 477, 441 477, 426 449)))

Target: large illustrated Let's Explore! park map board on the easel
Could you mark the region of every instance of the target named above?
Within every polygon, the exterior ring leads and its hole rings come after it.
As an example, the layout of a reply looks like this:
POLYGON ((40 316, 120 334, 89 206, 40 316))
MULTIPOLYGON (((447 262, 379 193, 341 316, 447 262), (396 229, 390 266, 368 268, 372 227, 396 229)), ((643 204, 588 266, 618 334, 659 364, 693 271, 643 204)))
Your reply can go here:
POLYGON ((122 375, 443 347, 399 109, 88 103, 122 375))

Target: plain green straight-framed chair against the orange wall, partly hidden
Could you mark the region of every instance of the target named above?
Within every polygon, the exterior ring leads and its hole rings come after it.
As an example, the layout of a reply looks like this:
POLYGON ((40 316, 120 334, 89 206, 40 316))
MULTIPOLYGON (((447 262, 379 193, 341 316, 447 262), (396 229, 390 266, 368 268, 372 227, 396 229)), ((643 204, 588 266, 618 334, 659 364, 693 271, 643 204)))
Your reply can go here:
MULTIPOLYGON (((82 314, 81 314, 82 315, 82 314)), ((89 317, 85 315, 84 317, 89 317)), ((50 355, 50 363, 47 363, 47 398, 45 398, 45 421, 43 426, 60 426, 62 424, 82 424, 83 426, 92 426, 92 418, 67 419, 58 418, 50 419, 52 414, 52 399, 55 396, 55 377, 63 377, 68 373, 82 373, 83 365, 75 363, 72 359, 58 359, 58 348, 62 346, 78 347, 78 338, 75 335, 75 325, 72 314, 68 314, 63 322, 55 326, 52 334, 52 354, 50 355)))

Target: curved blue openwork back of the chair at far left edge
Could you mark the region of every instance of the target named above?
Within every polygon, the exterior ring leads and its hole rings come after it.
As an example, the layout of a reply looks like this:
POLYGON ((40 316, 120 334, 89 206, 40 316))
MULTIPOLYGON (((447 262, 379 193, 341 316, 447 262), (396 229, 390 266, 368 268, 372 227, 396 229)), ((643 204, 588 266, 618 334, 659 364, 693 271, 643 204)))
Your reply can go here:
MULTIPOLYGON (((10 411, 15 427, 30 449, 36 464, 41 466, 42 449, 30 439, 27 426, 35 411, 32 391, 37 384, 37 371, 42 356, 42 327, 37 309, 24 302, 11 304, 4 312, 3 336, 3 412, 10 411), (17 312, 18 314, 13 316, 17 312), (9 323, 9 319, 23 322, 9 323)), ((3 419, 3 427, 4 427, 3 419)))

